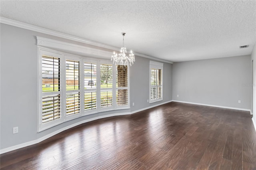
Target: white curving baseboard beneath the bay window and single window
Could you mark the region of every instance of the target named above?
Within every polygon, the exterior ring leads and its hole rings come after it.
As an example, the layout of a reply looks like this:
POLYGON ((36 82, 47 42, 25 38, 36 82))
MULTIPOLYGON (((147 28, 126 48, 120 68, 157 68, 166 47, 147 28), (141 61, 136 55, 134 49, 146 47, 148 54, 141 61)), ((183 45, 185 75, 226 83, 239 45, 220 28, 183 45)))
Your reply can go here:
POLYGON ((60 132, 63 132, 64 130, 67 130, 69 128, 72 128, 72 127, 75 127, 75 126, 78 126, 78 125, 81 125, 83 123, 87 123, 87 122, 90 122, 90 121, 95 121, 97 119, 103 119, 103 118, 107 118, 107 117, 114 117, 114 116, 122 116, 122 115, 131 115, 131 114, 134 114, 134 113, 137 113, 137 112, 140 112, 140 111, 144 111, 146 109, 150 109, 152 107, 156 107, 156 106, 160 106, 160 105, 164 105, 166 103, 170 103, 171 101, 166 101, 164 103, 160 103, 160 104, 157 104, 157 105, 152 105, 150 107, 146 107, 146 108, 143 108, 143 109, 139 109, 139 110, 136 110, 136 111, 132 111, 132 112, 126 112, 126 113, 113 113, 113 114, 110 114, 110 115, 103 115, 103 116, 98 116, 98 117, 94 117, 94 118, 91 118, 91 119, 86 119, 86 120, 83 120, 83 121, 80 121, 78 123, 74 123, 72 125, 69 125, 67 127, 64 127, 64 128, 61 128, 59 130, 56 130, 50 134, 47 134, 41 138, 38 138, 36 140, 32 140, 32 141, 29 141, 29 142, 25 142, 25 143, 22 143, 22 144, 18 144, 18 145, 15 145, 15 146, 11 146, 11 147, 8 147, 8 148, 4 148, 4 149, 1 149, 0 150, 0 154, 3 154, 3 153, 6 153, 6 152, 10 152, 12 150, 16 150, 16 149, 20 149, 20 148, 24 148, 26 146, 30 146, 30 145, 33 145, 33 144, 37 144, 39 142, 42 142, 43 140, 46 140, 60 132))

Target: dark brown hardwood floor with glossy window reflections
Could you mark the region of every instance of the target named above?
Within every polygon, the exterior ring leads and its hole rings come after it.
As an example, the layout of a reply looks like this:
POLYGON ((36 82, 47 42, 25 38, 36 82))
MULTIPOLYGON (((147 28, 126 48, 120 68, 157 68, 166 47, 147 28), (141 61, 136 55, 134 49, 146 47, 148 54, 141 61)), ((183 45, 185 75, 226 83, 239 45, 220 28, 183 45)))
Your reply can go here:
POLYGON ((251 118, 246 111, 172 102, 1 154, 1 169, 255 170, 251 118))

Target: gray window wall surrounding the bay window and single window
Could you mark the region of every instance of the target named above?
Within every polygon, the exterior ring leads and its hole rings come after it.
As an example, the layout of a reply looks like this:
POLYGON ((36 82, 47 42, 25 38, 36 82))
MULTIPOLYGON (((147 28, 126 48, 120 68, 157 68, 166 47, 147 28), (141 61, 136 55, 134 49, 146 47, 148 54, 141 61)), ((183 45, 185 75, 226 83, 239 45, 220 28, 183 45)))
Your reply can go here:
POLYGON ((130 69, 130 102, 135 104, 134 106, 131 105, 131 109, 80 117, 38 133, 38 53, 36 36, 85 45, 1 24, 0 149, 37 140, 63 127, 100 115, 132 112, 172 100, 172 64, 164 63, 164 100, 149 104, 147 99, 149 98, 150 59, 136 56, 136 61, 130 69), (13 127, 19 127, 19 133, 12 134, 13 127))

